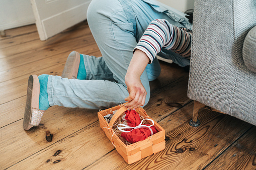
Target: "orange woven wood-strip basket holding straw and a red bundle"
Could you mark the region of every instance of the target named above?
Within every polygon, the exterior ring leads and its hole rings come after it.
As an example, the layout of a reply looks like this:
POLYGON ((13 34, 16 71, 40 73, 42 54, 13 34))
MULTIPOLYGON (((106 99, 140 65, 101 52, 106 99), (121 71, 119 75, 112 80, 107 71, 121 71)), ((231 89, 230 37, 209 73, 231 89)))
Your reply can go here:
MULTIPOLYGON (((106 110, 102 110, 98 112, 98 116, 101 128, 106 133, 107 137, 110 139, 112 144, 115 146, 116 150, 119 152, 119 154, 121 154, 121 156, 128 164, 134 163, 146 156, 149 156, 153 153, 157 153, 165 148, 165 131, 154 120, 154 126, 158 132, 153 134, 152 137, 149 136, 145 140, 132 143, 128 146, 125 143, 123 143, 121 139, 116 135, 116 133, 114 133, 114 131, 112 130, 112 126, 117 120, 117 118, 124 111, 126 111, 126 108, 124 107, 124 104, 122 104, 120 106, 115 106, 106 110), (118 111, 113 115, 110 123, 108 123, 105 120, 104 116, 107 114, 111 114, 114 110, 118 111)), ((139 107, 136 109, 136 111, 144 118, 151 119, 143 108, 139 107)), ((148 123, 152 124, 152 122, 148 123)))

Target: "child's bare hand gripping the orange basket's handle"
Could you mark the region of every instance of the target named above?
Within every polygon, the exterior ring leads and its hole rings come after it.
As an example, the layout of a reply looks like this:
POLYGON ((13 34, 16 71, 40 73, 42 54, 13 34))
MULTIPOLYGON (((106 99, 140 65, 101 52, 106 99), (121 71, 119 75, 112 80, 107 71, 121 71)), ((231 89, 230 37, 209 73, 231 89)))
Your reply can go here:
POLYGON ((125 77, 125 84, 129 92, 129 96, 125 98, 128 104, 125 106, 128 109, 136 109, 137 107, 143 106, 146 100, 146 89, 142 85, 140 78, 125 77))

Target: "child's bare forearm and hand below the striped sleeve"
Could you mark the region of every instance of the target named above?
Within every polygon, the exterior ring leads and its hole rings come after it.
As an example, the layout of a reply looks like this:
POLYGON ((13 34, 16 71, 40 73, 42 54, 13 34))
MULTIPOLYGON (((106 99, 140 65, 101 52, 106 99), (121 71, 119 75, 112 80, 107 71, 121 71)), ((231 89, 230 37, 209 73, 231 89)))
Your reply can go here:
POLYGON ((147 92, 140 81, 140 76, 145 70, 149 58, 141 50, 135 50, 127 73, 125 75, 125 84, 129 92, 129 96, 125 98, 128 109, 137 108, 145 104, 147 92))

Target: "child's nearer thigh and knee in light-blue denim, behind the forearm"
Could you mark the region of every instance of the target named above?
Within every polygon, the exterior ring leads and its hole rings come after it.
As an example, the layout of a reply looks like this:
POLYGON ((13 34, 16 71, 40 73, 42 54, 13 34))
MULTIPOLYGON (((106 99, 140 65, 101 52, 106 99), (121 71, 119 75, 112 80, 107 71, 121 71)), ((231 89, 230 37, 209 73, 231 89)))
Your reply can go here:
MULTIPOLYGON (((88 23, 114 79, 126 87, 124 77, 137 45, 135 15, 129 1, 92 1, 88 23)), ((146 71, 141 75, 141 82, 147 91, 146 104, 150 96, 146 71)))

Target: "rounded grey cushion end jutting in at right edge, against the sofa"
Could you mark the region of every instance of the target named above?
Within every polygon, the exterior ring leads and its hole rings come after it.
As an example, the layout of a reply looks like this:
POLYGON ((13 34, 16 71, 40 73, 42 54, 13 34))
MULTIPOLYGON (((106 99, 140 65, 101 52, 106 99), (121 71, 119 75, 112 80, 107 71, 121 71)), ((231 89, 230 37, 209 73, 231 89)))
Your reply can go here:
POLYGON ((256 73, 256 26, 245 37, 242 56, 246 67, 256 73))

